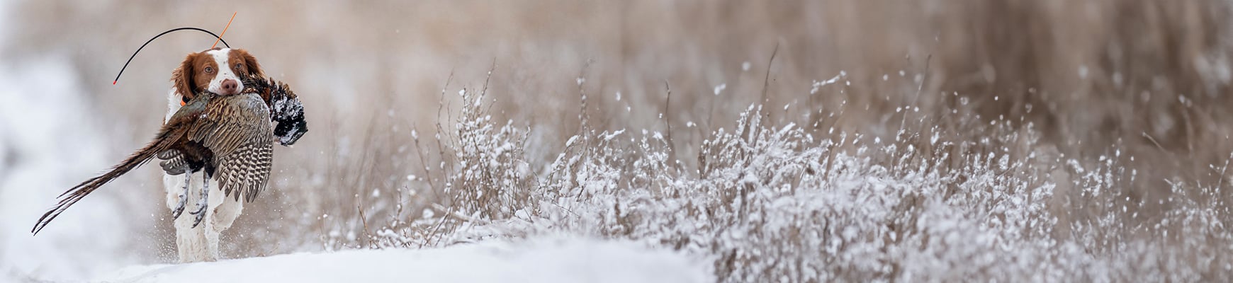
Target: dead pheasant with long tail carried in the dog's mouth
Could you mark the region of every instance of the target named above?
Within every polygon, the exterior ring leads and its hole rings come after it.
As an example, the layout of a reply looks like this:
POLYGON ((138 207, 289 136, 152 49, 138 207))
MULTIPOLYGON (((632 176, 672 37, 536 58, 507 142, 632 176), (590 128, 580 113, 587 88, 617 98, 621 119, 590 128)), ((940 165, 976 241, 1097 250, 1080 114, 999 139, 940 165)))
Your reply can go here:
MULTIPOLYGON (((268 82, 272 84, 272 81, 268 82)), ((285 85, 281 86, 285 89, 285 85)), ((238 95, 229 96, 208 91, 196 95, 163 124, 153 142, 106 173, 89 178, 62 193, 58 197, 60 201, 38 219, 31 233, 38 234, 47 224, 86 194, 155 156, 168 159, 162 164, 164 170, 185 173, 186 178, 191 176, 191 172, 205 171, 206 186, 202 186, 202 197, 197 202, 196 210, 191 212, 196 215, 194 226, 201 223, 205 217, 210 178, 218 181, 224 196, 231 196, 234 192, 238 198, 243 193, 247 201, 252 201, 265 188, 270 177, 275 132, 271 119, 277 117, 271 114, 269 103, 276 102, 272 97, 276 92, 270 90, 277 90, 277 87, 268 87, 266 92, 269 94, 265 94, 265 97, 259 90, 245 89, 238 95)), ((290 100, 282 97, 282 102, 286 101, 292 101, 298 106, 298 100, 295 100, 293 94, 290 100)), ((284 110, 277 112, 286 116, 281 112, 291 113, 291 116, 298 113, 298 123, 291 121, 287 127, 303 126, 302 111, 284 110)), ((280 127, 282 124, 284 122, 280 122, 280 127)), ((295 139, 302 135, 303 130, 307 128, 286 129, 284 135, 291 134, 293 137, 281 137, 280 142, 284 144, 295 143, 295 139)), ((186 194, 189 182, 185 183, 186 194)), ((182 213, 182 199, 186 198, 181 198, 180 208, 173 210, 173 215, 176 218, 182 213)))

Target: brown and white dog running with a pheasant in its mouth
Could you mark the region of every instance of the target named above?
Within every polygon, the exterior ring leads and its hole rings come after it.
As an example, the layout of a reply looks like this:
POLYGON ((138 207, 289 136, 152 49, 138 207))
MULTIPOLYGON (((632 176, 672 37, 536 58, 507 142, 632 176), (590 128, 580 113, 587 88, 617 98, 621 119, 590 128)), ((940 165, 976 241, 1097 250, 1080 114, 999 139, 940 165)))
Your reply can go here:
MULTIPOLYGON (((243 49, 213 48, 199 53, 189 54, 184 58, 174 71, 171 71, 171 90, 168 92, 166 119, 170 119, 184 103, 192 100, 200 91, 210 91, 219 95, 237 95, 244 90, 244 79, 263 78, 261 65, 256 58, 243 49)), ((203 180, 202 172, 192 173, 191 180, 203 180)), ((175 209, 181 197, 187 197, 187 203, 196 203, 200 194, 190 193, 182 196, 185 177, 180 175, 163 175, 163 186, 166 189, 168 208, 175 209)), ((218 188, 215 180, 208 180, 211 188, 218 188)), ((201 182, 191 182, 190 189, 201 189, 201 182)), ((199 262, 218 260, 218 234, 231 228, 236 218, 244 208, 243 201, 227 198, 223 193, 208 194, 206 219, 202 220, 205 228, 194 229, 194 218, 181 217, 175 219, 175 244, 179 251, 180 262, 199 262)))

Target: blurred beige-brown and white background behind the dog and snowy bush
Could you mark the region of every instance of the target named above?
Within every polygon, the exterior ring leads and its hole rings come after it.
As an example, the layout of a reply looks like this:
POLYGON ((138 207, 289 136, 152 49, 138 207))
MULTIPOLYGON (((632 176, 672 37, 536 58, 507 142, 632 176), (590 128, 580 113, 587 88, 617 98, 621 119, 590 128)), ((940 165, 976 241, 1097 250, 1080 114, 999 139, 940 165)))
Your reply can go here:
POLYGON ((1233 150, 1231 11, 1217 0, 10 0, 0 4, 0 274, 80 278, 175 261, 149 166, 37 237, 28 229, 58 193, 153 135, 171 69, 213 39, 164 36, 112 85, 132 52, 169 28, 221 32, 232 12, 224 39, 296 90, 309 132, 276 148, 271 189, 223 234, 231 258, 358 247, 359 208, 393 209, 382 199, 396 194, 412 212, 434 202, 422 164, 440 156, 412 132, 450 127, 457 91, 482 87, 490 68, 494 119, 529 129, 536 172, 583 110, 599 129, 671 127, 688 167, 707 134, 752 103, 820 135, 893 137, 903 107, 963 108, 1041 133, 1032 146, 1043 149, 1014 151, 1095 162, 1116 149, 1139 180, 1118 187, 1160 214, 1168 207, 1152 201, 1168 197, 1165 178, 1223 182, 1211 165, 1233 150))

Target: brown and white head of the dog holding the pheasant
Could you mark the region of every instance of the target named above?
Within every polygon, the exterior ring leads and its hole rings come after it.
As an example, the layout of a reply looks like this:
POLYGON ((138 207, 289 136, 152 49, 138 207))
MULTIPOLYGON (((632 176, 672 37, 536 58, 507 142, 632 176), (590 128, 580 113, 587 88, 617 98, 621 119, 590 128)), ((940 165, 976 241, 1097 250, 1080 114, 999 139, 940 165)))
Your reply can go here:
POLYGON ((242 79, 264 76, 256 58, 244 49, 213 48, 189 54, 171 73, 173 94, 180 102, 189 102, 196 92, 238 95, 244 90, 242 79))

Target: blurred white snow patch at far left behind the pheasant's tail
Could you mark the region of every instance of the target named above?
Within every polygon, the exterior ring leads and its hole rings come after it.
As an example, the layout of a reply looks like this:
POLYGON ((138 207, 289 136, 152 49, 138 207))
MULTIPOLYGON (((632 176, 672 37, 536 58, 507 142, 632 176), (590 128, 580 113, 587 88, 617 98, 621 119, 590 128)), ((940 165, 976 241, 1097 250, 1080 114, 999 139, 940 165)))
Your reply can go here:
MULTIPOLYGON (((55 196, 105 169, 106 140, 74 143, 63 137, 102 137, 90 118, 91 111, 79 98, 80 86, 70 64, 59 59, 31 59, 22 71, 0 66, 0 282, 6 273, 47 279, 81 278, 134 262, 122 239, 125 204, 122 189, 106 189, 73 205, 38 236, 31 236, 35 220, 55 202, 55 196), (10 84, 10 81, 14 81, 10 84), (22 81, 16 84, 15 81, 22 81), (37 95, 30 95, 37 94, 37 95), (72 160, 68 162, 67 160, 72 160), (73 173, 65 173, 73 172, 73 173), (89 236, 89 241, 81 239, 89 236), (16 260, 20 258, 20 260, 16 260)), ((125 181, 115 187, 132 187, 125 181)), ((132 192, 132 191, 128 191, 132 192)))

